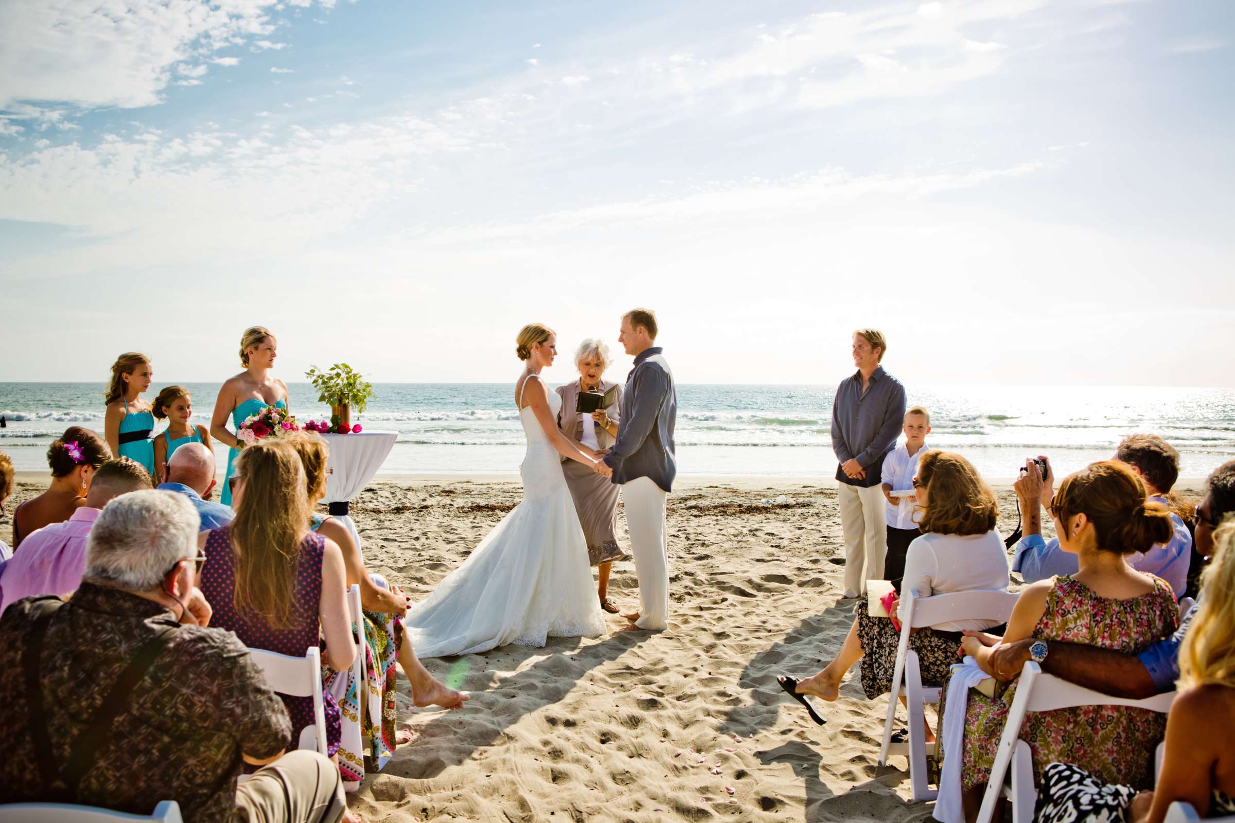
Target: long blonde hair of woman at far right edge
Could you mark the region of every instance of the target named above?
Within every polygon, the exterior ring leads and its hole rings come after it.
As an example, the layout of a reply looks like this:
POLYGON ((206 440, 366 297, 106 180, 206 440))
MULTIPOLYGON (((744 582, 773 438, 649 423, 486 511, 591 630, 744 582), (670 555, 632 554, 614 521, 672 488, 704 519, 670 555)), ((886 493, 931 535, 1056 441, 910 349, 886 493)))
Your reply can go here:
POLYGON ((1214 555, 1200 577, 1197 614, 1179 649, 1179 689, 1235 689, 1235 519, 1214 531, 1214 555))

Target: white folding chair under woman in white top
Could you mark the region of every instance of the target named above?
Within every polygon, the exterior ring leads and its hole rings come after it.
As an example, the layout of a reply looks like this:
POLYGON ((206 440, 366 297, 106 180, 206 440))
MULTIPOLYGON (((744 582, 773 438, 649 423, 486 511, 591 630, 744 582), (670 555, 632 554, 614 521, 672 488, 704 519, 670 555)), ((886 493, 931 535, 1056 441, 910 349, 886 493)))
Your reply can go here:
POLYGON ((892 693, 888 695, 888 714, 883 722, 883 743, 879 746, 879 765, 887 765, 890 755, 905 755, 909 759, 909 780, 913 800, 934 800, 939 791, 930 787, 926 775, 926 755, 935 754, 937 744, 931 744, 927 751, 924 740, 926 703, 939 703, 940 689, 924 687, 918 653, 909 648, 910 629, 953 621, 995 621, 1005 623, 1011 617, 1018 595, 1007 591, 958 591, 950 595, 919 597, 918 590, 904 595, 900 607, 900 644, 897 647, 897 663, 892 674, 892 693), (909 742, 893 743, 892 730, 897 722, 897 701, 900 697, 902 676, 904 680, 905 702, 909 708, 909 742))

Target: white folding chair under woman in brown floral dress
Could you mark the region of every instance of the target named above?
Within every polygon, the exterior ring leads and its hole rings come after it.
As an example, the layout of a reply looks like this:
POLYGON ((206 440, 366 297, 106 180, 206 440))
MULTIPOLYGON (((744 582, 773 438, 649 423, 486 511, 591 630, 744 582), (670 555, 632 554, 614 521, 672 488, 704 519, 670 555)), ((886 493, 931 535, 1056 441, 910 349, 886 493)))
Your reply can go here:
MULTIPOLYGON (((1173 700, 1173 691, 1145 700, 1112 697, 1051 675, 1044 675, 1041 668, 1030 660, 1020 671, 1016 696, 1008 709, 1008 721, 999 737, 995 763, 990 769, 990 782, 987 784, 987 792, 982 796, 978 823, 989 823, 1000 795, 1011 800, 1013 823, 1030 823, 1034 819, 1034 806, 1037 803, 1037 788, 1034 786, 1034 755, 1029 744, 1020 739, 1021 723, 1030 712, 1052 712, 1073 706, 1129 706, 1166 714, 1171 711, 1173 700), (1011 786, 1005 787, 1004 776, 1008 774, 1009 765, 1011 767, 1011 786)), ((1158 744, 1155 764, 1161 763, 1161 759, 1162 745, 1158 744)))

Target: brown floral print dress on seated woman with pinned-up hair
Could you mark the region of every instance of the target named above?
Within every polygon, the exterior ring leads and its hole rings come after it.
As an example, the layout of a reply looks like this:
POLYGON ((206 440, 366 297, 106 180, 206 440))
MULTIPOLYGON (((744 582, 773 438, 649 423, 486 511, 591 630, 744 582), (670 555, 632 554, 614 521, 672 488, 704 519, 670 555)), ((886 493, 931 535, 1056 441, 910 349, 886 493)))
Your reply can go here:
MULTIPOLYGON (((1034 637, 1136 654, 1178 623, 1179 607, 1171 586, 1158 577, 1147 595, 1110 600, 1063 575, 1055 579, 1034 637)), ((969 691, 961 770, 966 790, 989 780, 1014 696, 1015 684, 998 700, 969 691)), ((1020 739, 1032 750, 1039 785, 1047 764, 1070 763, 1108 784, 1152 788, 1153 749, 1165 732, 1166 714, 1123 706, 1077 706, 1029 714, 1020 739)))

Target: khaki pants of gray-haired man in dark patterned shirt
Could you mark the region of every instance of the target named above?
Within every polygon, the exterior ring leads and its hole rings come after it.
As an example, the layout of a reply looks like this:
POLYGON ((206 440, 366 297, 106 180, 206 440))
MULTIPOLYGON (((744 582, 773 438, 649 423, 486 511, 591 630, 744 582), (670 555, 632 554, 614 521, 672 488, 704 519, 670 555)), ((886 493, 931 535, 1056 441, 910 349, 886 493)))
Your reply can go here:
POLYGON ((289 751, 236 786, 236 814, 245 823, 337 823, 343 817, 343 777, 329 758, 289 751))

